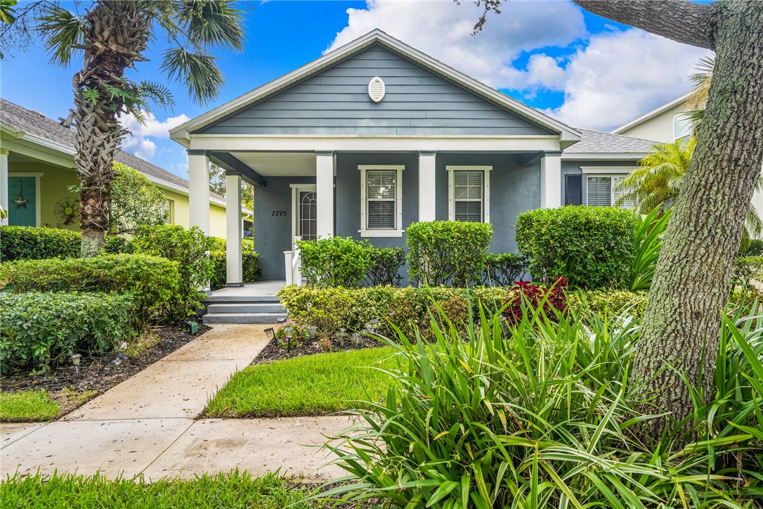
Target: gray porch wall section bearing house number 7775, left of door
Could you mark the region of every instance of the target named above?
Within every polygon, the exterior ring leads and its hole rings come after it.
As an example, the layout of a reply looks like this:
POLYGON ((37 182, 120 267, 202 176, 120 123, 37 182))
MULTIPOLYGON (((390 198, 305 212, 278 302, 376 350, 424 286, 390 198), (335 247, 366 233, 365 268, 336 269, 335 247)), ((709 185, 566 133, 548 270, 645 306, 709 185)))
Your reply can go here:
POLYGON ((254 245, 259 253, 260 279, 286 279, 284 251, 291 249, 290 184, 314 184, 315 177, 268 177, 267 186, 254 186, 254 245), (286 211, 273 216, 272 211, 286 211))

